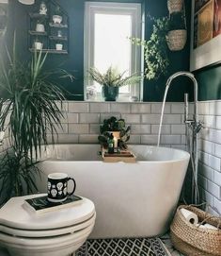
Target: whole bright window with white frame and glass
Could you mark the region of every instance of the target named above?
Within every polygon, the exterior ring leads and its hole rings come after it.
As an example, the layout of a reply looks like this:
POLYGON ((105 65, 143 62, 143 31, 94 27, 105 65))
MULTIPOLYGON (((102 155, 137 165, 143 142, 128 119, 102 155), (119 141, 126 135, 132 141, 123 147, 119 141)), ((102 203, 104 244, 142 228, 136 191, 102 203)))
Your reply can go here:
MULTIPOLYGON (((85 95, 87 87, 96 87, 101 99, 102 87, 88 81, 87 70, 96 67, 104 73, 116 67, 125 75, 140 73, 140 47, 132 45, 129 38, 141 38, 141 5, 131 3, 86 2, 85 6, 85 95)), ((139 86, 119 88, 119 100, 130 96, 139 98, 139 86)))

